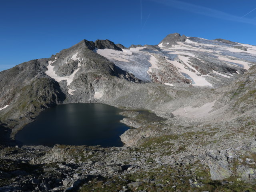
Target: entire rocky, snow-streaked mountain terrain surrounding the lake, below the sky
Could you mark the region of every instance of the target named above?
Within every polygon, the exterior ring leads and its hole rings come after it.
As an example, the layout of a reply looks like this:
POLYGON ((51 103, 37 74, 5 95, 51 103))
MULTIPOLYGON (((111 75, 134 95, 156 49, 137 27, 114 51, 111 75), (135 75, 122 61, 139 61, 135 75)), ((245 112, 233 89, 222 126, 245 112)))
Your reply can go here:
POLYGON ((129 48, 82 40, 4 70, 0 191, 254 191, 255 64, 256 46, 174 33, 129 48), (122 108, 124 146, 15 147, 68 103, 122 108))

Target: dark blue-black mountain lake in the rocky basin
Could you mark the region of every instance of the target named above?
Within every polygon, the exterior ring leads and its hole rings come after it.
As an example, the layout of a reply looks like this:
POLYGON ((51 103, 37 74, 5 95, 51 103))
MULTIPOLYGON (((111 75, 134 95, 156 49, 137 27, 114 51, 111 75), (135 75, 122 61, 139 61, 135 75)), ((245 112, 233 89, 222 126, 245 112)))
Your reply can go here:
POLYGON ((64 104, 44 110, 15 136, 21 145, 55 144, 122 146, 128 126, 119 121, 122 110, 106 104, 64 104))

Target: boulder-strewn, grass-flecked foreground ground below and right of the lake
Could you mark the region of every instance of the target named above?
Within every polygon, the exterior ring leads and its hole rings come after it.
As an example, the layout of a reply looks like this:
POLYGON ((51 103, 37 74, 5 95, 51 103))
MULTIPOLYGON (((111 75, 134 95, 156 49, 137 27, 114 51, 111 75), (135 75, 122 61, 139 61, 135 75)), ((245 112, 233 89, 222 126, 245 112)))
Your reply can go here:
POLYGON ((122 115, 136 127, 124 147, 1 146, 0 191, 255 191, 255 119, 179 125, 122 115))

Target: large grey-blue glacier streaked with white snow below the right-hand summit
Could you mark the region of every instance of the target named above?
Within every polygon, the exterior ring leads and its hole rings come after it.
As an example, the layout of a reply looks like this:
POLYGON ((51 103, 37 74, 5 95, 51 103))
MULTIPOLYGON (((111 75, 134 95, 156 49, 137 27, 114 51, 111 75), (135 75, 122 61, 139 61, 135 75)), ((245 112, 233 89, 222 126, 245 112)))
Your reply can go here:
MULTIPOLYGON (((168 44, 169 42, 158 44, 160 51, 144 46, 122 51, 95 49, 94 52, 108 58, 116 66, 134 74, 143 82, 152 82, 150 75, 156 72, 152 71, 153 68, 162 72, 168 71, 169 67, 163 63, 164 60, 157 59, 157 56, 164 57, 165 61, 175 67, 184 78, 190 79, 193 86, 208 87, 214 87, 214 79, 221 81, 222 78, 234 77, 231 73, 226 73, 227 70, 223 71, 223 68, 232 67, 236 74, 241 74, 242 70, 248 70, 256 62, 256 46, 237 44, 247 48, 247 51, 243 51, 234 48, 233 44, 194 37, 166 48, 168 44), (200 63, 195 63, 195 59, 200 63), (204 64, 209 63, 212 64, 211 70, 207 69, 207 74, 200 73, 198 68, 202 69, 204 64)), ((170 81, 161 83, 171 84, 170 81)))

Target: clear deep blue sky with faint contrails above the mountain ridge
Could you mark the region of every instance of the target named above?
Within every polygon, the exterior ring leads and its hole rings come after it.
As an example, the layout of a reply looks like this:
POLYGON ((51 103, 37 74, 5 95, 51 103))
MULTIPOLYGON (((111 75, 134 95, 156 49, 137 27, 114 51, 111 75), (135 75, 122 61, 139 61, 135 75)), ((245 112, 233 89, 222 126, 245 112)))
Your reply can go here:
POLYGON ((174 32, 256 45, 256 1, 2 1, 0 71, 49 58, 83 39, 154 45, 174 32))

